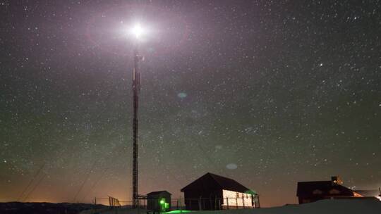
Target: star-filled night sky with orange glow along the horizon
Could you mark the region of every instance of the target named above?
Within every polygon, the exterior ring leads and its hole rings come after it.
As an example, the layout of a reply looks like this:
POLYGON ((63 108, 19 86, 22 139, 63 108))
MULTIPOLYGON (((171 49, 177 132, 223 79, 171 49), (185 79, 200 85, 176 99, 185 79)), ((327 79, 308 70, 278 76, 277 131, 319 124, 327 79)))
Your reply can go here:
POLYGON ((0 0, 0 201, 131 200, 136 20, 140 194, 381 186, 380 1, 0 0))

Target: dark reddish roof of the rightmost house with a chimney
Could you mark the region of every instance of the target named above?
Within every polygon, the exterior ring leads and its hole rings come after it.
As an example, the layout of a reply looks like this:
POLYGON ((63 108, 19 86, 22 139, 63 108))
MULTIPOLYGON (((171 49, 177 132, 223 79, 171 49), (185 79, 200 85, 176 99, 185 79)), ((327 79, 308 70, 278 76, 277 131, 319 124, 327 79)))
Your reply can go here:
POLYGON ((332 181, 298 182, 296 196, 353 196, 353 190, 332 181))

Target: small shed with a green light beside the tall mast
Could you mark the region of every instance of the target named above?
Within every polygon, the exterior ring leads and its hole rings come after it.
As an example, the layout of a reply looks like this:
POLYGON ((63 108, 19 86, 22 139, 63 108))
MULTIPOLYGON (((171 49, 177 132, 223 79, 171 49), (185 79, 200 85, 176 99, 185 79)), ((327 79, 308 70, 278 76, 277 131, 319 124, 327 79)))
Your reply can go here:
POLYGON ((168 191, 152 191, 147 194, 147 210, 167 212, 171 208, 171 194, 168 191))

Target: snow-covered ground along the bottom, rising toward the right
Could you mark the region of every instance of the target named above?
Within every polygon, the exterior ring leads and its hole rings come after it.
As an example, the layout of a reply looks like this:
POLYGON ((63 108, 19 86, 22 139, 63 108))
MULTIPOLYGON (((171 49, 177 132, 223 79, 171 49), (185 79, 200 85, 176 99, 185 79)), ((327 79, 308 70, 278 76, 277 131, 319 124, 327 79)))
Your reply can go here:
MULTIPOLYGON (((90 214, 90 210, 82 214, 90 214)), ((97 212, 104 214, 145 214, 146 210, 108 210, 97 212)), ((246 210, 214 210, 195 211, 195 214, 381 214, 381 201, 373 200, 324 200, 315 203, 305 203, 301 205, 289 205, 274 208, 259 208, 246 210)))

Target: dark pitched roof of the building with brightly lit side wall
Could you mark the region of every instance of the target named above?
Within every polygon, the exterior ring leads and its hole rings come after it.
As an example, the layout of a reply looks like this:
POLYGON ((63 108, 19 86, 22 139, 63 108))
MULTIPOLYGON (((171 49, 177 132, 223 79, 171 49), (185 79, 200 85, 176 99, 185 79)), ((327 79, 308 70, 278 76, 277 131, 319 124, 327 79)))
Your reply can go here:
POLYGON ((191 184, 188 184, 186 187, 181 189, 181 191, 186 191, 190 189, 200 189, 201 187, 210 187, 210 183, 213 183, 214 186, 219 187, 220 189, 226 189, 231 191, 238 191, 238 192, 246 192, 248 194, 256 194, 254 191, 248 189, 247 187, 243 186, 242 184, 236 182, 235 180, 232 180, 228 177, 222 177, 220 175, 215 175, 210 172, 207 172, 205 175, 202 175, 194 182, 191 182, 191 184), (208 184, 205 184, 205 183, 208 184))

